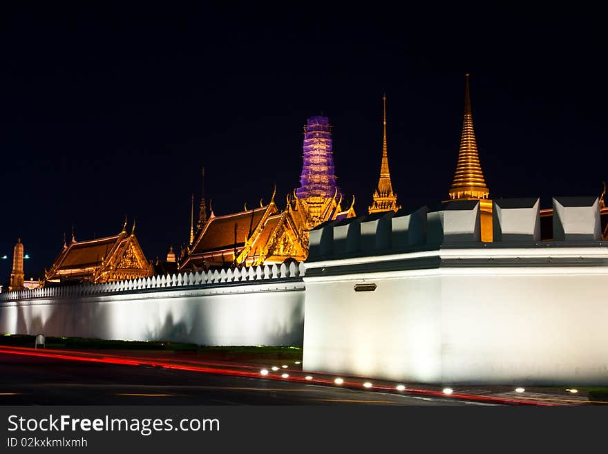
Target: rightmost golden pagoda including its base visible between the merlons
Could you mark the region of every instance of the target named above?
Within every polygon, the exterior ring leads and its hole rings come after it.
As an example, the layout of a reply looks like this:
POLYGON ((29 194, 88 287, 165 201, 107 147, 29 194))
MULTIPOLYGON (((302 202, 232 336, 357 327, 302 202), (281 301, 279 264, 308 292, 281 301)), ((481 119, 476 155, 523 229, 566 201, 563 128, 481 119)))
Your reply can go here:
POLYGON ((492 200, 490 189, 486 186, 479 152, 473 129, 471 95, 468 88, 468 74, 465 74, 464 119, 460 138, 460 151, 452 187, 448 191, 450 200, 479 200, 481 210, 482 241, 492 241, 492 200))

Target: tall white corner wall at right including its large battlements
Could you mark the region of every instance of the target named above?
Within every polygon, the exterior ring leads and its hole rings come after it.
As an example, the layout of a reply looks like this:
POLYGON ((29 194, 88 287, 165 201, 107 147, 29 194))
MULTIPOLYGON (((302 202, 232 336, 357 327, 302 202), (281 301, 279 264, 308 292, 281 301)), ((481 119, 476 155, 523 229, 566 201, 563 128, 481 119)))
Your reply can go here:
POLYGON ((331 224, 311 231, 304 368, 414 383, 608 385, 598 198, 554 199, 552 241, 540 241, 538 199, 493 204, 493 243, 479 238, 473 200, 345 221, 350 248, 324 231, 331 224), (405 230, 417 232, 407 244, 405 230))

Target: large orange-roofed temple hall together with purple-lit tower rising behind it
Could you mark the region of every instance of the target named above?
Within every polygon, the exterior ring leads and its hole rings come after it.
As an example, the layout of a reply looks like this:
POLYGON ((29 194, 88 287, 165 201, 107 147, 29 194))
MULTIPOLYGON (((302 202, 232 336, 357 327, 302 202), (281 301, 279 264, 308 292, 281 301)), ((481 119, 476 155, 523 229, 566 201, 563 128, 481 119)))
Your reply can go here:
MULTIPOLYGON (((204 176, 204 171, 203 171, 204 176)), ((336 184, 331 126, 327 117, 307 120, 303 142, 301 187, 287 196, 285 209, 275 201, 260 207, 217 216, 201 195, 196 234, 191 223, 191 240, 180 258, 180 270, 303 261, 308 256, 308 232, 326 220, 355 216, 354 199, 342 207, 342 193, 336 184)), ((203 182, 204 188, 204 182, 203 182)))

